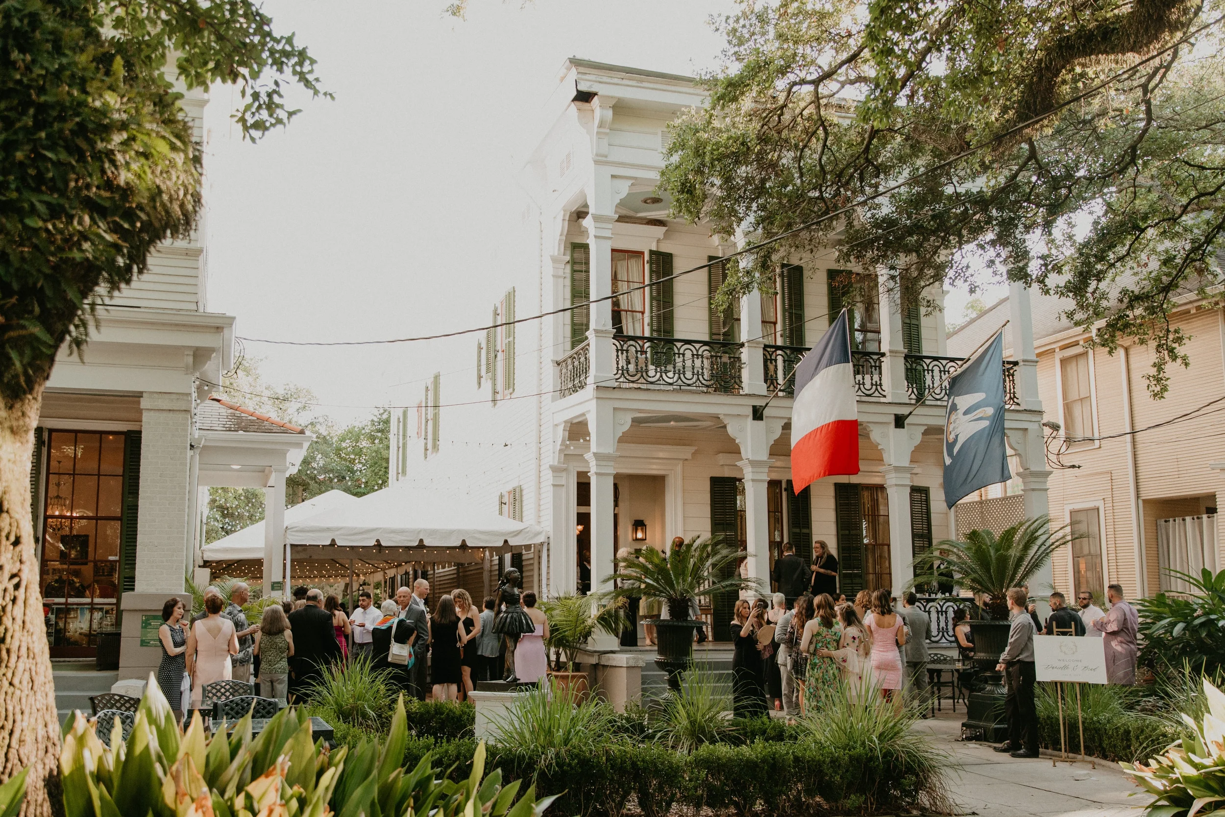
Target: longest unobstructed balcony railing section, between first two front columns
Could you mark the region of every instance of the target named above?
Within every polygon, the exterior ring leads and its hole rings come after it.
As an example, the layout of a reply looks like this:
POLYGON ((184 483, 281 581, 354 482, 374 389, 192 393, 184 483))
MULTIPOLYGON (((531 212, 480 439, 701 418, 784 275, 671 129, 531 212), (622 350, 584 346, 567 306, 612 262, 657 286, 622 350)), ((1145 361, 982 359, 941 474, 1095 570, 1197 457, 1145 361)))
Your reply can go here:
POLYGON ((739 394, 739 343, 619 334, 612 338, 617 385, 695 388, 739 394))

